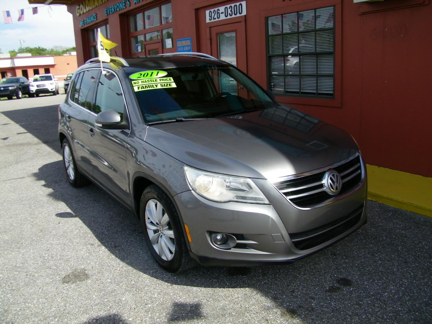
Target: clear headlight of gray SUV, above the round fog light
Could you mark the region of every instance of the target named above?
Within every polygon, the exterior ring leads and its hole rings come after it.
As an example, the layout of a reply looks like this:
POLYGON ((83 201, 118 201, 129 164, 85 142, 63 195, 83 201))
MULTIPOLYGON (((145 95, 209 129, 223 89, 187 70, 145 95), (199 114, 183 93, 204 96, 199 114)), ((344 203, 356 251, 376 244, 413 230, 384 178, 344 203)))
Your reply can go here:
POLYGON ((269 201, 249 178, 232 177, 184 166, 186 179, 200 196, 220 203, 266 203, 269 201))

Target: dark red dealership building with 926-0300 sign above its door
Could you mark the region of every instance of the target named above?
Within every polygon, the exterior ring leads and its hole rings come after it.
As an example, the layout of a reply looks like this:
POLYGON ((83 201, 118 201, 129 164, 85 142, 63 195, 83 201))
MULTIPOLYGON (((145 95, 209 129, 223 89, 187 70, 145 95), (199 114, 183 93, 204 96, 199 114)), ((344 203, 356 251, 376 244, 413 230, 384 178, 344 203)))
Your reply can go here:
POLYGON ((277 101, 348 130, 369 165, 432 177, 428 0, 51 3, 66 4, 73 15, 78 65, 96 56, 97 28, 122 57, 208 53, 277 101))

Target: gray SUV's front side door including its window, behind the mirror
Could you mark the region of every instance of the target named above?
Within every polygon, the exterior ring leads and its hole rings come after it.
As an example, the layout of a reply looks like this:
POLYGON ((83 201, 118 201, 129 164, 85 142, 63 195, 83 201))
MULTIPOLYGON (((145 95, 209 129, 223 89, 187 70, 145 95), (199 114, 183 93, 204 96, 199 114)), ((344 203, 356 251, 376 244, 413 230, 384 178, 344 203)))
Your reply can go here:
POLYGON ((126 145, 129 130, 102 129, 96 114, 114 109, 122 121, 128 121, 124 92, 118 76, 110 70, 101 74, 97 84, 93 114, 89 116, 90 161, 93 178, 124 203, 130 204, 126 165, 126 145))

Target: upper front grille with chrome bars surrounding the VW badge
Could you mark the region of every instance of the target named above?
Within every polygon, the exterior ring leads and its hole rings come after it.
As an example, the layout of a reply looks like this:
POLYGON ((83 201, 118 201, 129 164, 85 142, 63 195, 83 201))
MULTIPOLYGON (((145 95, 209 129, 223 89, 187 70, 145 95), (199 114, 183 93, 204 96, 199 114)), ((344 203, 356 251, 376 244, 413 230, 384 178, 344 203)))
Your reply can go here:
POLYGON ((356 188, 362 182, 362 165, 360 156, 337 166, 322 168, 316 173, 294 177, 280 182, 274 182, 276 188, 295 206, 314 208, 337 200, 356 188), (336 170, 342 178, 342 188, 337 195, 330 195, 325 191, 324 175, 327 170, 336 170))

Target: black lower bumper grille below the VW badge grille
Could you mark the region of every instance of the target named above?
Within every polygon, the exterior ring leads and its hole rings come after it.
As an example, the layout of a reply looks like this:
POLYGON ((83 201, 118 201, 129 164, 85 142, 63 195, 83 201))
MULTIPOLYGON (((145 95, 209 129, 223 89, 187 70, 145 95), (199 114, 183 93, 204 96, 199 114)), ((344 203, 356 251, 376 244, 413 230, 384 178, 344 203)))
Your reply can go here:
POLYGON ((355 226, 362 218, 364 205, 362 204, 356 210, 348 215, 342 216, 326 225, 311 229, 306 232, 289 234, 292 243, 299 250, 314 248, 320 244, 330 241, 332 238, 346 232, 355 226))

